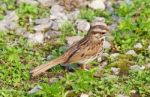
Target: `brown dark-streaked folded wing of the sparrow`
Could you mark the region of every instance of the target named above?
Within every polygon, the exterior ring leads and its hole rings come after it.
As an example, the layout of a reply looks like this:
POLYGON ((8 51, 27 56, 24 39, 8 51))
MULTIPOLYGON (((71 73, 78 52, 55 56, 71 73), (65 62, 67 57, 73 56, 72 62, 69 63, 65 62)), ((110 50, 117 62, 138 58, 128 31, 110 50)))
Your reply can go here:
MULTIPOLYGON (((85 57, 94 56, 99 52, 99 48, 102 48, 101 46, 101 43, 93 43, 88 39, 80 41, 76 46, 76 50, 70 53, 66 63, 76 63, 85 59, 85 57)), ((72 49, 70 48, 69 51, 72 49)))

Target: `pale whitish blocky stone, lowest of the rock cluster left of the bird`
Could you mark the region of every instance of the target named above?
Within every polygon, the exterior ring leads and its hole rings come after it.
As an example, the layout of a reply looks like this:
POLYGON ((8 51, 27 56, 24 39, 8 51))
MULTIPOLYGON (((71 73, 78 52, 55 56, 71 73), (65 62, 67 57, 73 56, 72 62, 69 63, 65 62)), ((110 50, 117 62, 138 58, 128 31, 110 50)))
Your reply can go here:
POLYGON ((41 32, 37 32, 35 34, 29 34, 28 40, 30 43, 43 43, 44 35, 41 32))

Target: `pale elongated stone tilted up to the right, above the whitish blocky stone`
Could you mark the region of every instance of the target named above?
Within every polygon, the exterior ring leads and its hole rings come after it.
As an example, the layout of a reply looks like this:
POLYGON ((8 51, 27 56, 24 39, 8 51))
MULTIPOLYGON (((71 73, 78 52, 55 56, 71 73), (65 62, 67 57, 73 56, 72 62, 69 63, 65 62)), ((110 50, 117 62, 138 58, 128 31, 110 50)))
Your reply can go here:
POLYGON ((50 29, 51 25, 52 25, 51 22, 47 24, 36 25, 33 27, 33 29, 37 32, 42 32, 42 31, 50 29))

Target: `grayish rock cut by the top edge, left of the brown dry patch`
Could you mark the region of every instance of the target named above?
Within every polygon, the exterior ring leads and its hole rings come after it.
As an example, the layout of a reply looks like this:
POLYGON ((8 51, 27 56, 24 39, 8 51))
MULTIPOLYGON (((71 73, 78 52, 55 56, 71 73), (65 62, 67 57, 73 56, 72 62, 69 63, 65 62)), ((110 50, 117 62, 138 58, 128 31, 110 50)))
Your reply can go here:
POLYGON ((51 7, 56 4, 56 0, 38 0, 42 7, 51 7))

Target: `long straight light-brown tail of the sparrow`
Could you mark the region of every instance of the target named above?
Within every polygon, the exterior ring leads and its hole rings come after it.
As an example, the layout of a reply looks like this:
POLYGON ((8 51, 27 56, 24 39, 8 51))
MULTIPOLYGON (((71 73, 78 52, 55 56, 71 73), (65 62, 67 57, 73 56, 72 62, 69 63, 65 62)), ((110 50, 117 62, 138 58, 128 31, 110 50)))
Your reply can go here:
POLYGON ((37 76, 39 74, 41 74, 42 72, 45 72, 46 70, 58 65, 58 64, 62 64, 65 62, 65 59, 63 56, 60 56, 46 64, 43 64, 43 65, 40 65, 36 68, 34 68, 33 70, 31 70, 31 75, 34 77, 34 76, 37 76))

